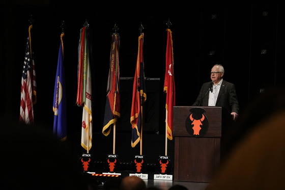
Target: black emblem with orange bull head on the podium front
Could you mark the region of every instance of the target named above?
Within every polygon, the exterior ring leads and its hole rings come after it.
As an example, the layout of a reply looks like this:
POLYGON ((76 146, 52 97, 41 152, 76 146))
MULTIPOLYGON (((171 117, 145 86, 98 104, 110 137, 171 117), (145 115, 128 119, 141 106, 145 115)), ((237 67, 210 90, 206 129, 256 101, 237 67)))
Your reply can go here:
POLYGON ((194 107, 186 119, 186 130, 193 137, 202 137, 209 129, 206 111, 201 107, 194 107))

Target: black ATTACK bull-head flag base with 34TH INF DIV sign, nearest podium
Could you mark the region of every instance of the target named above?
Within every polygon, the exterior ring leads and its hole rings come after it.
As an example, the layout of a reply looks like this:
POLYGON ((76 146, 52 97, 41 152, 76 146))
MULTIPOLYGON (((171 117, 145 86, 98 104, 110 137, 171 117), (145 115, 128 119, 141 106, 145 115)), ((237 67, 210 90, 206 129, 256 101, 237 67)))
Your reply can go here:
POLYGON ((172 164, 168 156, 159 156, 155 168, 156 172, 158 172, 159 174, 154 174, 153 179, 159 179, 159 180, 173 179, 172 175, 168 175, 172 171, 172 164))

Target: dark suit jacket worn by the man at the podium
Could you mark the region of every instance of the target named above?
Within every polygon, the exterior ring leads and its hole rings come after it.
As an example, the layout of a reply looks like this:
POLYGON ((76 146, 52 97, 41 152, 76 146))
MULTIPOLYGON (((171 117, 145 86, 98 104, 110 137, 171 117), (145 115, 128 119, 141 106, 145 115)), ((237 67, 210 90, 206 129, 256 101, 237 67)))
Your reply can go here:
MULTIPOLYGON (((192 106, 208 106, 209 92, 207 91, 211 88, 211 83, 212 82, 207 82, 202 85, 200 93, 192 106)), ((225 108, 229 113, 239 113, 239 102, 234 84, 223 80, 216 101, 216 106, 225 108)))

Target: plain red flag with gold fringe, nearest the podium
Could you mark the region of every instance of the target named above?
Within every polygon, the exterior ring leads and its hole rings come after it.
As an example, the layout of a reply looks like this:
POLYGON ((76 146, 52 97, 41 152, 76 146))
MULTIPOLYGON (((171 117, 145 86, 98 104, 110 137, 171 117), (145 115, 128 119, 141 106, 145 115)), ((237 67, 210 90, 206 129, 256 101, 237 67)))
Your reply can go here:
POLYGON ((173 106, 176 105, 175 97, 175 80, 174 80, 174 62, 173 62, 173 43, 172 43, 172 32, 167 29, 167 44, 166 44, 166 67, 165 67, 165 78, 163 91, 166 93, 166 129, 167 138, 173 139, 173 106))

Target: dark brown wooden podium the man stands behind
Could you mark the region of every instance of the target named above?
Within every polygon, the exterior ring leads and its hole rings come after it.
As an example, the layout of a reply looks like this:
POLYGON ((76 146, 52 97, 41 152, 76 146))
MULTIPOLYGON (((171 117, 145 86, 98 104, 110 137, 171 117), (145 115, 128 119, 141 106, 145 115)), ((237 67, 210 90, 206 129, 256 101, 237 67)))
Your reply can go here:
POLYGON ((220 164, 222 112, 222 107, 217 106, 174 106, 174 181, 211 182, 220 164), (208 130, 202 137, 189 133, 192 108, 205 110, 204 122, 207 122, 203 125, 208 125, 208 130))

